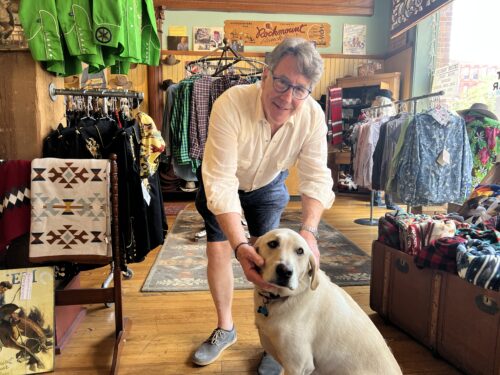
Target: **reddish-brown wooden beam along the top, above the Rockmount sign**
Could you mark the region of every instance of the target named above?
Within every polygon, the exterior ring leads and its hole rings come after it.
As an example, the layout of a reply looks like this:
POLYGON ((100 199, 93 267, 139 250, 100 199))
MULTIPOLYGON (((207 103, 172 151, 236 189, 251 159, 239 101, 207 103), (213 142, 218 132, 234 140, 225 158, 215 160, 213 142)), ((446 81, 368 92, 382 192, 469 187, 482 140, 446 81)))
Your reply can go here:
POLYGON ((167 10, 372 16, 374 0, 154 0, 167 10))

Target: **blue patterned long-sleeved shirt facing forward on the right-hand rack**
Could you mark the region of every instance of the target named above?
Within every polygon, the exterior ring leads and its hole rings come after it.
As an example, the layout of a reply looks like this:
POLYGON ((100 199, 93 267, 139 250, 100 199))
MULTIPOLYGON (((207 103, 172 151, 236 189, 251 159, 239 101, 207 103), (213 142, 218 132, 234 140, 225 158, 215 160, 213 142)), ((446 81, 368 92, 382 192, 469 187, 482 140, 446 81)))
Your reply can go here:
POLYGON ((410 205, 462 203, 472 184, 472 156, 464 120, 445 109, 446 121, 430 112, 408 127, 396 167, 400 199, 410 205), (439 163, 443 150, 449 163, 439 163))

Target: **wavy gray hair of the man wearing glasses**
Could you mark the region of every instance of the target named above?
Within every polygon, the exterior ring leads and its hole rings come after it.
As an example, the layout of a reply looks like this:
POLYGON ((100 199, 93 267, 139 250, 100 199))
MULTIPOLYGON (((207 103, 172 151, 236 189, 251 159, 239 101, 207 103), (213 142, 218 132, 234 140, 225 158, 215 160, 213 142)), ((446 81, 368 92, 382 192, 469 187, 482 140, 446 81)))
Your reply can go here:
POLYGON ((288 55, 297 58, 300 73, 311 80, 312 84, 321 79, 323 59, 313 43, 302 38, 286 38, 266 56, 269 69, 273 71, 279 62, 288 55))

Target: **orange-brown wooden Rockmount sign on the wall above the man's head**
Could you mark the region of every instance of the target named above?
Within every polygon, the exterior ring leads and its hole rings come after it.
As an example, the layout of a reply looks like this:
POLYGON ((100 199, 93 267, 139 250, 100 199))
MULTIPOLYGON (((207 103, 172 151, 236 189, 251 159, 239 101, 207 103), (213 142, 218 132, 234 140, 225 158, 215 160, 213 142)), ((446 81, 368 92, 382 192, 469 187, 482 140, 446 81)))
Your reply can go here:
POLYGON ((330 24, 313 22, 225 21, 225 37, 245 46, 276 46, 285 38, 304 38, 317 47, 330 46, 330 24))

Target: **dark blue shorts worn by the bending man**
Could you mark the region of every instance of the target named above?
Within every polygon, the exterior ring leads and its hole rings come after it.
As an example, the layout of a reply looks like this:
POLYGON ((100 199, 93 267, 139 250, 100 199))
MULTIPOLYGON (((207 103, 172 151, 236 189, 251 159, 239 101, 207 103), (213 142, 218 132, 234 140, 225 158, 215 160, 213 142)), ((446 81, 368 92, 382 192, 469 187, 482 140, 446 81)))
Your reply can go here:
MULTIPOLYGON (((205 221, 208 242, 220 242, 227 240, 219 227, 215 215, 207 207, 205 188, 201 178, 201 167, 197 172, 200 182, 196 194, 196 209, 205 221)), ((273 181, 257 190, 244 192, 238 190, 241 207, 248 224, 251 236, 260 237, 264 233, 279 227, 281 214, 290 200, 285 179, 288 171, 281 172, 273 181)))

